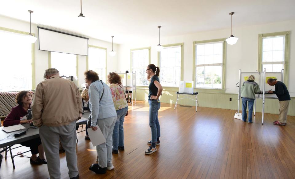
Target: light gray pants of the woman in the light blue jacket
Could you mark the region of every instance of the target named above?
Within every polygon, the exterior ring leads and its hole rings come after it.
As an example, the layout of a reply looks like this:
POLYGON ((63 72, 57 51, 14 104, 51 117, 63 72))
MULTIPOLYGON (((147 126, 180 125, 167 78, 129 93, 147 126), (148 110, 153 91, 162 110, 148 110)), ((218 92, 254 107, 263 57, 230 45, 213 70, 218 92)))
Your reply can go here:
POLYGON ((105 143, 96 146, 98 165, 101 168, 112 166, 112 135, 117 116, 97 120, 97 125, 106 139, 105 143))

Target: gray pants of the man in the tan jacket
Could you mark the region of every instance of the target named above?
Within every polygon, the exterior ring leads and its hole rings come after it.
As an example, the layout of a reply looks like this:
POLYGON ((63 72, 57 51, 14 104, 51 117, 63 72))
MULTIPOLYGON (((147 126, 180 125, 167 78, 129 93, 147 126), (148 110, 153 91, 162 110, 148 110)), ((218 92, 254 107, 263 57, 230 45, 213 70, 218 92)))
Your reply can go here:
POLYGON ((60 179, 59 140, 65 149, 69 177, 78 175, 76 153, 76 121, 60 127, 42 125, 39 134, 44 147, 50 179, 60 179))

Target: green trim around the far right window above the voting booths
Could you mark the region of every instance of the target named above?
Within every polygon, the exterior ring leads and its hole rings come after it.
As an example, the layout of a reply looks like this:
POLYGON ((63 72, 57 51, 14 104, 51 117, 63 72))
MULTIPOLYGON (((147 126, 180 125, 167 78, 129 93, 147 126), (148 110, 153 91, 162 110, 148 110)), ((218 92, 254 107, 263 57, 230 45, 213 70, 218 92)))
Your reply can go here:
POLYGON ((288 87, 289 79, 289 57, 290 57, 290 31, 274 32, 258 35, 258 71, 262 71, 262 39, 263 37, 273 37, 285 35, 285 63, 284 63, 284 83, 288 87))

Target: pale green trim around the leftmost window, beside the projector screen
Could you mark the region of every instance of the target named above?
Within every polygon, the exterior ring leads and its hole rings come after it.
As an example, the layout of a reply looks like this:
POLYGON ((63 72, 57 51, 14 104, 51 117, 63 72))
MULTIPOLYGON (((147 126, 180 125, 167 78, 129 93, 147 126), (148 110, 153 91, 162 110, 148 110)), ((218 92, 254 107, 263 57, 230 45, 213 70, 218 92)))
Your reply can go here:
MULTIPOLYGON (((23 35, 29 35, 29 32, 18 31, 10 28, 0 27, 1 31, 14 32, 23 35)), ((35 36, 34 33, 32 33, 35 36)), ((35 71, 35 43, 32 43, 32 90, 36 89, 36 71, 35 71)))

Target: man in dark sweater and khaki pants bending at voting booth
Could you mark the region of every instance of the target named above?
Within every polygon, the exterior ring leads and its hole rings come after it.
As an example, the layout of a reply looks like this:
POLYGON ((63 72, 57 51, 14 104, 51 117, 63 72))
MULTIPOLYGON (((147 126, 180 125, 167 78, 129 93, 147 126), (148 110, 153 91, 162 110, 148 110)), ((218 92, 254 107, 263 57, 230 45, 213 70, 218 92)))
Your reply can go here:
POLYGON ((270 86, 274 86, 275 91, 269 90, 268 92, 271 94, 276 94, 279 99, 279 120, 273 122, 275 125, 286 125, 287 124, 287 114, 290 103, 290 95, 286 85, 277 81, 277 79, 269 78, 267 83, 270 86))

